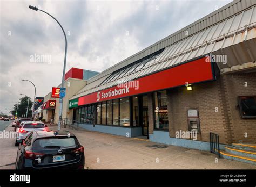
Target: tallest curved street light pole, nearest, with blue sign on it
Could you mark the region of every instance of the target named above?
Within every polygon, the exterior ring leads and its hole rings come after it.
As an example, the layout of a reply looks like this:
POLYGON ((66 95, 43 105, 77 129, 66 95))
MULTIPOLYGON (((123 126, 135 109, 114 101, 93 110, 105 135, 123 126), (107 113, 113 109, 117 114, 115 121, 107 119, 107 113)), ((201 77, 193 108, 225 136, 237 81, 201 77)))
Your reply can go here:
MULTIPOLYGON (((35 11, 40 10, 40 9, 38 9, 36 6, 31 6, 31 5, 29 5, 29 8, 32 9, 32 10, 35 10, 35 11)), ((62 74, 62 88, 64 88, 64 86, 65 86, 65 85, 64 85, 64 84, 65 84, 65 71, 66 71, 66 51, 67 51, 67 48, 68 48, 68 42, 67 42, 67 40, 66 40, 66 33, 65 33, 65 31, 64 31, 64 29, 63 29, 63 27, 62 27, 62 25, 60 25, 59 21, 58 21, 55 17, 53 17, 52 15, 50 15, 50 13, 47 13, 47 12, 45 12, 45 11, 43 11, 43 10, 40 10, 40 11, 46 13, 47 15, 51 16, 54 20, 57 21, 57 23, 59 24, 59 26, 62 28, 64 37, 65 37, 65 57, 64 57, 63 74, 62 74)), ((62 105, 62 103, 60 103, 60 107, 59 107, 58 130, 60 130, 60 124, 61 124, 61 122, 62 122, 62 108, 63 108, 63 105, 62 105)))

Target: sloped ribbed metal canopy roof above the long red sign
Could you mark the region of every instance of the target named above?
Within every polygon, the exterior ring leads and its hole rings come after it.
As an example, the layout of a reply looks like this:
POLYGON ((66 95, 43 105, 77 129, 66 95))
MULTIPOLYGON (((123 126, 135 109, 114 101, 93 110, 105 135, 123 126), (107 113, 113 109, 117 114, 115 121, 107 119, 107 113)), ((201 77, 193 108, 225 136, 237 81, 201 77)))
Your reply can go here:
MULTIPOLYGON (((105 80, 92 82, 80 90, 77 98, 99 90, 113 87, 119 82, 131 81, 157 71, 171 68, 209 53, 226 55, 226 63, 217 63, 221 73, 243 68, 255 68, 256 59, 256 6, 252 6, 237 15, 190 35, 166 47, 157 59, 149 60, 143 67, 130 74, 119 74, 117 79, 99 85, 105 80), (92 86, 93 85, 93 86, 92 86)), ((128 67, 128 66, 127 66, 128 67)))

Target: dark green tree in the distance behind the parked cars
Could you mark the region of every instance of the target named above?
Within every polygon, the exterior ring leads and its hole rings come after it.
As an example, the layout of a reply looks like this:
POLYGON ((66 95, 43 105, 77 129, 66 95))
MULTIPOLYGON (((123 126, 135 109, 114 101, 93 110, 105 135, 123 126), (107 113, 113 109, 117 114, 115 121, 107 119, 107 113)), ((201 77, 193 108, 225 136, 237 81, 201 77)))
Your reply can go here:
MULTIPOLYGON (((31 98, 29 97, 29 110, 28 110, 28 118, 31 118, 31 107, 33 105, 33 102, 31 101, 31 98)), ((19 99, 19 105, 18 105, 18 112, 17 117, 26 117, 26 106, 28 106, 28 99, 27 97, 22 97, 19 99)), ((11 114, 16 116, 16 110, 17 110, 17 104, 14 105, 14 108, 12 109, 11 114)))

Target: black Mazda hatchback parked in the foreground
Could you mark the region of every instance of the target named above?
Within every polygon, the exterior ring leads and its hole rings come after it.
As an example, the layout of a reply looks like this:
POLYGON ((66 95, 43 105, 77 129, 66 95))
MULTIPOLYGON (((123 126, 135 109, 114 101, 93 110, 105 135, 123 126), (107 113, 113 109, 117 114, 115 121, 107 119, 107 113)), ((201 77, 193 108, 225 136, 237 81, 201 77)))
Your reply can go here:
POLYGON ((84 147, 68 131, 32 131, 19 145, 16 169, 84 169, 84 147))

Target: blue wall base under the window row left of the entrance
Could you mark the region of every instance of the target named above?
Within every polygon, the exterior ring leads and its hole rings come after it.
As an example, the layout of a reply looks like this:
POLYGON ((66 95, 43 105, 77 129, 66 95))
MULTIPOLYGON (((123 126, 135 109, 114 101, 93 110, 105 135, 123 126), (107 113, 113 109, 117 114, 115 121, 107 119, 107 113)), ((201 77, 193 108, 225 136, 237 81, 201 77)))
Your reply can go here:
POLYGON ((79 124, 79 127, 84 128, 90 131, 98 131, 108 134, 115 134, 120 136, 126 137, 136 137, 142 135, 142 127, 114 127, 114 126, 107 126, 107 125, 95 125, 93 127, 92 124, 79 124))

